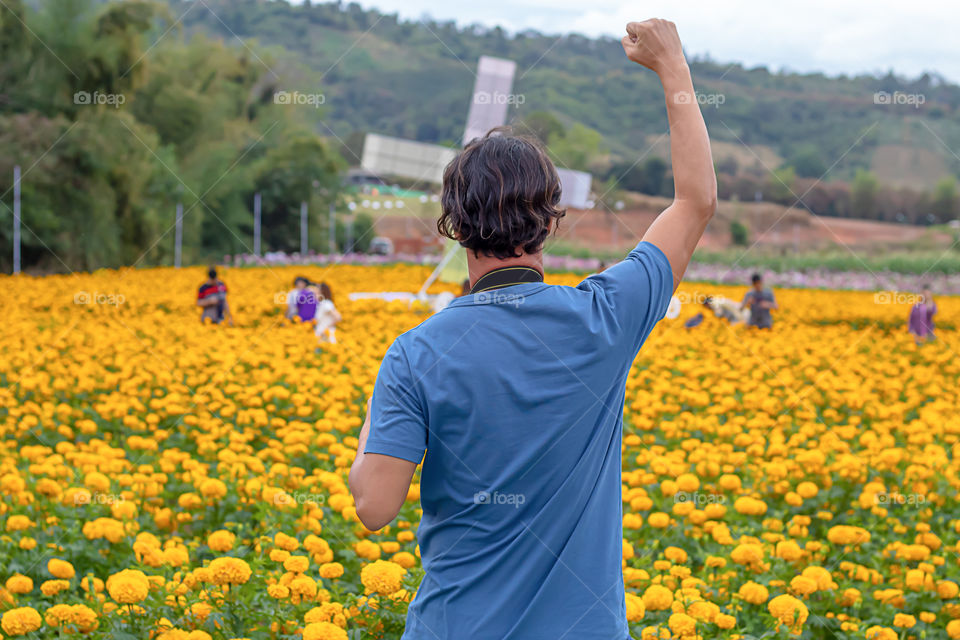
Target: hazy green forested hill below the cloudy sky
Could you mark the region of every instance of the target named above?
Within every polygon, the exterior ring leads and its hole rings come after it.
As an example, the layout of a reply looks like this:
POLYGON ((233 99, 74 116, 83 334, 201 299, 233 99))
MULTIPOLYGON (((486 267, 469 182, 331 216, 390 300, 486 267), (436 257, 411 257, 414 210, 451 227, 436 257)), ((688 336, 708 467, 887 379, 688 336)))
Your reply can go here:
MULTIPOLYGON (((633 162, 666 130, 656 78, 625 60, 613 38, 509 35, 403 21, 344 3, 176 0, 171 6, 188 32, 279 46, 318 72, 325 122, 354 152, 362 139, 357 132, 458 140, 480 55, 518 63, 514 91, 522 104, 511 108, 513 121, 547 111, 565 126, 602 134, 601 151, 608 153, 593 158, 595 173, 633 162)), ((951 152, 960 149, 960 87, 941 78, 773 73, 707 60, 691 66, 711 103, 704 108, 711 135, 729 143, 718 145, 717 161, 733 173, 769 172, 778 168, 770 166, 774 158, 796 165, 799 177, 819 178, 829 169, 828 179, 849 180, 857 169, 872 168, 885 184, 923 190, 960 175, 960 158, 951 152), (877 104, 877 92, 903 103, 877 104), (917 95, 922 104, 913 104, 917 95), (917 154, 923 162, 912 160, 917 154)))

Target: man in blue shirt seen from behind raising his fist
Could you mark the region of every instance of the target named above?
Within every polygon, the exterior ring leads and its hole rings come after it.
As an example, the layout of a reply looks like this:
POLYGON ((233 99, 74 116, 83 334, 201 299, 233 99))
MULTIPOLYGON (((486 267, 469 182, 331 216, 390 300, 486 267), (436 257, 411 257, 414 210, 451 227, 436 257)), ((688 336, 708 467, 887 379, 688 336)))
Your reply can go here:
POLYGON ((576 288, 543 283, 560 181, 527 139, 492 132, 444 172, 438 227, 467 249, 473 293, 387 351, 350 471, 357 515, 376 530, 423 460, 426 573, 405 640, 629 637, 624 387, 713 215, 716 180, 676 27, 630 23, 623 48, 663 84, 676 192, 626 260, 576 288))

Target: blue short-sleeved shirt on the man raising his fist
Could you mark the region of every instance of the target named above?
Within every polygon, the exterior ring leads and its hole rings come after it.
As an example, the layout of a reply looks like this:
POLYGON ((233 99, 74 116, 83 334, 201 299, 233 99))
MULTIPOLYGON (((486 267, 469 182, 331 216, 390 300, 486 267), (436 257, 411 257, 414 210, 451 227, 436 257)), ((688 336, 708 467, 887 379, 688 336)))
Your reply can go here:
POLYGON ((577 287, 464 296, 393 343, 364 451, 423 460, 405 640, 629 637, 624 388, 672 292, 641 242, 577 287))

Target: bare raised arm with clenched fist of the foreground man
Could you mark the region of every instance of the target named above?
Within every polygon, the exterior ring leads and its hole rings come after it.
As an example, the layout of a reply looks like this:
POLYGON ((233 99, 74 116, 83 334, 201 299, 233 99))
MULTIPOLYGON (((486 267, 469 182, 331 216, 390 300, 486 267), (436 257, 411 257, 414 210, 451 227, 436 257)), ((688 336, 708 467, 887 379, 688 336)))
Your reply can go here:
POLYGON ((628 58, 656 72, 666 96, 675 195, 643 239, 667 256, 676 289, 717 206, 710 138, 676 25, 656 19, 631 22, 623 50, 628 58))

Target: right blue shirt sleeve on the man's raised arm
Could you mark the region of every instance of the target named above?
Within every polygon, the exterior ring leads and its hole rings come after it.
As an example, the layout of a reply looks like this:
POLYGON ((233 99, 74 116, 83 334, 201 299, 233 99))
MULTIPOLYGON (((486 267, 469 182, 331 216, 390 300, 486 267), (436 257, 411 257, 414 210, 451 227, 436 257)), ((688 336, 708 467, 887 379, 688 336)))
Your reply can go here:
POLYGON ((623 262, 590 276, 580 287, 594 291, 601 318, 636 354, 667 313, 673 296, 673 270, 659 247, 641 242, 623 262))

